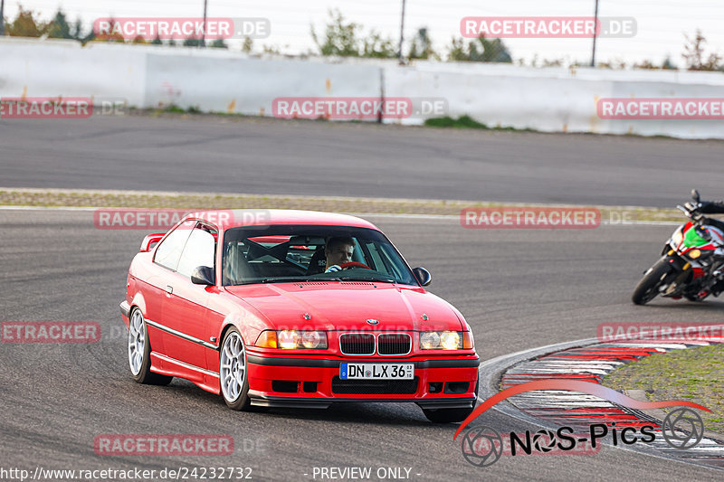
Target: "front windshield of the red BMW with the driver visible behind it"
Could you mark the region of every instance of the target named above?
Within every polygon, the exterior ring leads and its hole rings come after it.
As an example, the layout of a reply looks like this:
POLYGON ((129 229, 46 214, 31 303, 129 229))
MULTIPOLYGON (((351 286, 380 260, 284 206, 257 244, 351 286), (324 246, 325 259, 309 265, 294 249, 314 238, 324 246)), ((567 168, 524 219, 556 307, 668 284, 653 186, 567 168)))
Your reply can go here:
POLYGON ((346 226, 278 225, 224 233, 222 283, 319 279, 417 285, 395 247, 378 231, 346 226))

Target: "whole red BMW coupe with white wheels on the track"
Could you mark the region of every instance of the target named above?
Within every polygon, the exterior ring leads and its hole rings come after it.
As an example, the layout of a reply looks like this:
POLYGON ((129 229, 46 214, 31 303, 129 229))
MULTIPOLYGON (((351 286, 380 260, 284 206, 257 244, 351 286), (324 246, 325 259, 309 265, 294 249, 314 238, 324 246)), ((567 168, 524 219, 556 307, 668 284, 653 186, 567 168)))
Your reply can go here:
POLYGON ((120 304, 130 372, 185 378, 234 410, 415 402, 430 421, 462 421, 480 359, 430 280, 357 217, 190 214, 131 262, 120 304))

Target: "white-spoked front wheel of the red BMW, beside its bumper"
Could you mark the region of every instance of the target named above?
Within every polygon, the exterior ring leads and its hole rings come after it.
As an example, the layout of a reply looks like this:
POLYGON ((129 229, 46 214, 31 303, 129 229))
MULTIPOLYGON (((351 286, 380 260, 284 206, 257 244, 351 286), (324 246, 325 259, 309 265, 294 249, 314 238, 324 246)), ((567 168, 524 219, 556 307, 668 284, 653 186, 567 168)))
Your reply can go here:
POLYGON ((246 373, 246 350, 242 336, 232 327, 224 335, 219 350, 219 383, 224 402, 232 410, 248 410, 249 377, 246 373))

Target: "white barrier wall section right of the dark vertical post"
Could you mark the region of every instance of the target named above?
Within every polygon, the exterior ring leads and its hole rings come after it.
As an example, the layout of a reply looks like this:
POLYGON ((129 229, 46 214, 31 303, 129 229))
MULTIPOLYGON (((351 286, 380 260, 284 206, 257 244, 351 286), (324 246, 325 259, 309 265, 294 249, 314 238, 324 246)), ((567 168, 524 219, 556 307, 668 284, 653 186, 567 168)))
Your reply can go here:
MULTIPOLYGON (((450 115, 489 127, 544 132, 724 138, 721 120, 601 119, 603 98, 724 99, 724 74, 688 71, 532 69, 507 64, 433 63, 388 66, 386 95, 445 97, 450 115)), ((405 119, 402 123, 421 123, 405 119)))

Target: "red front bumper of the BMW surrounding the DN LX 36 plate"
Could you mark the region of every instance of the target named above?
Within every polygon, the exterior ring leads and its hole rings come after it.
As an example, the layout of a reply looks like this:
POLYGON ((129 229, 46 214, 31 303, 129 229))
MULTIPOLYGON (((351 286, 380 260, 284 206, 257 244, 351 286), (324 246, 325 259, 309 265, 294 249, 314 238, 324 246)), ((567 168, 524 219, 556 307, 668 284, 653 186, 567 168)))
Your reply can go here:
POLYGON ((414 402, 424 409, 471 408, 477 398, 477 355, 281 357, 247 353, 252 405, 327 408, 335 402, 414 402), (414 380, 341 381, 339 365, 414 364, 414 380))

